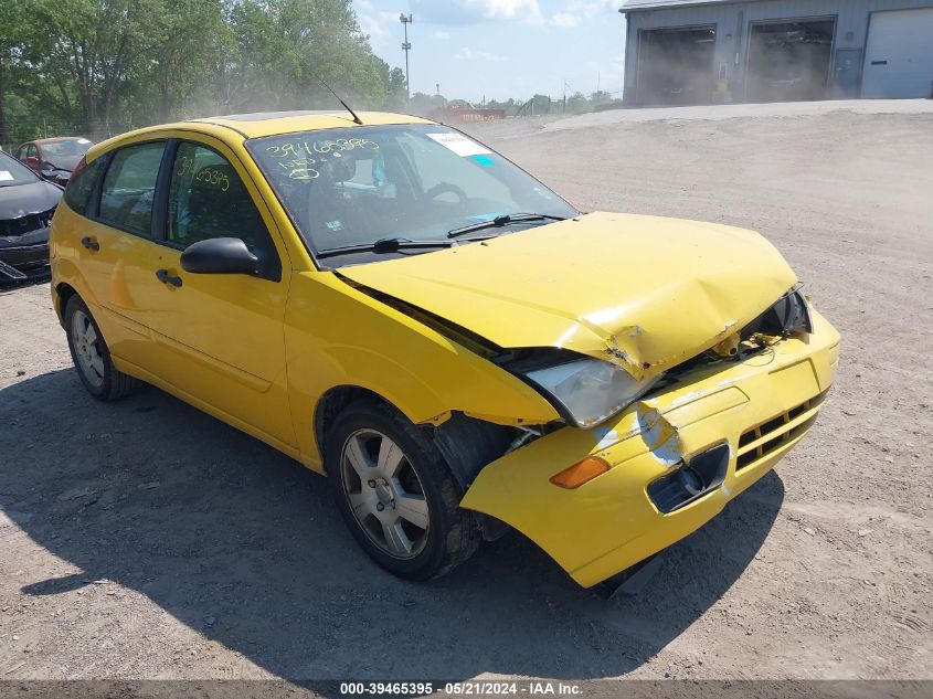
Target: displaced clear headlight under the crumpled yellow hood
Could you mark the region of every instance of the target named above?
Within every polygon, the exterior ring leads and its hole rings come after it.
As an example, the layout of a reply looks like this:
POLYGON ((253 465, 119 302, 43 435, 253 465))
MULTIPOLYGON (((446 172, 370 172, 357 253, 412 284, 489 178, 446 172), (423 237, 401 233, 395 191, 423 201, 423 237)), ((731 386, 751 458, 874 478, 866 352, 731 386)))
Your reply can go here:
POLYGON ((638 381, 611 362, 572 353, 568 356, 569 361, 522 371, 521 375, 577 427, 595 427, 608 420, 638 400, 660 379, 657 375, 638 381))

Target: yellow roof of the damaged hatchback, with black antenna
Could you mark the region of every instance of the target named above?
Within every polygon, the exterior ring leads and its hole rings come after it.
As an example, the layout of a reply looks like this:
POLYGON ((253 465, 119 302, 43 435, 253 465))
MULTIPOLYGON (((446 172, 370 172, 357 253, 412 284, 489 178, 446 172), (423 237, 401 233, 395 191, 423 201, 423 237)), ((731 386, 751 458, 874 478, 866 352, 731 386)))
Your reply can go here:
POLYGON ((359 112, 362 125, 353 121, 347 112, 257 112, 254 114, 231 114, 226 116, 204 117, 177 121, 174 124, 161 124, 121 134, 94 146, 87 153, 91 162, 100 153, 119 145, 125 140, 132 140, 138 136, 158 131, 198 131, 210 134, 224 140, 245 140, 250 138, 262 138, 263 136, 277 136, 279 134, 294 134, 297 131, 315 131, 331 128, 362 128, 367 126, 384 126, 389 124, 435 124, 430 119, 411 116, 407 114, 392 114, 390 112, 359 112))

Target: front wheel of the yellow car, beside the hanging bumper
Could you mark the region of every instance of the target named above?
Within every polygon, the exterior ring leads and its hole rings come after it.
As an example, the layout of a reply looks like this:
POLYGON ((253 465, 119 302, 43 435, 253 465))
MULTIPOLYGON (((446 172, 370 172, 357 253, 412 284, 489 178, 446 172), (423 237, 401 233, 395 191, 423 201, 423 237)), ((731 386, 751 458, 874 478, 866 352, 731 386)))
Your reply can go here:
POLYGON ((337 506, 381 566, 411 580, 439 578, 479 546, 459 485, 430 437, 388 405, 347 407, 326 441, 337 506))

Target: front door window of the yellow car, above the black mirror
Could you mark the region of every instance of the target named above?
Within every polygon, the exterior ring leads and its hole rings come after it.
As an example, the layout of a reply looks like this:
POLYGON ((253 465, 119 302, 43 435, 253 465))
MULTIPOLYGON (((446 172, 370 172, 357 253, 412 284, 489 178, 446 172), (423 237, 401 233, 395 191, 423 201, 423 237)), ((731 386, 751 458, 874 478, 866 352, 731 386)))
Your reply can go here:
POLYGON ((211 237, 238 237, 259 256, 275 252, 233 166, 211 148, 183 142, 169 188, 168 240, 187 247, 211 237))

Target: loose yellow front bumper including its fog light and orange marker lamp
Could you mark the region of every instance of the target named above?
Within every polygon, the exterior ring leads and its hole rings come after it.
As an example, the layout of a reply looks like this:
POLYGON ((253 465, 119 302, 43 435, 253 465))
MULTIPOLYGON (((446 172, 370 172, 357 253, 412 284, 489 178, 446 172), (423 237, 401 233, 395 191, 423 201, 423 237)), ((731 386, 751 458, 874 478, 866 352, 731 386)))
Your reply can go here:
POLYGON ((767 473, 833 382, 839 336, 797 289, 736 336, 731 351, 720 341, 657 374, 598 425, 551 425, 500 455, 462 506, 518 529, 584 586, 642 566, 767 473))

